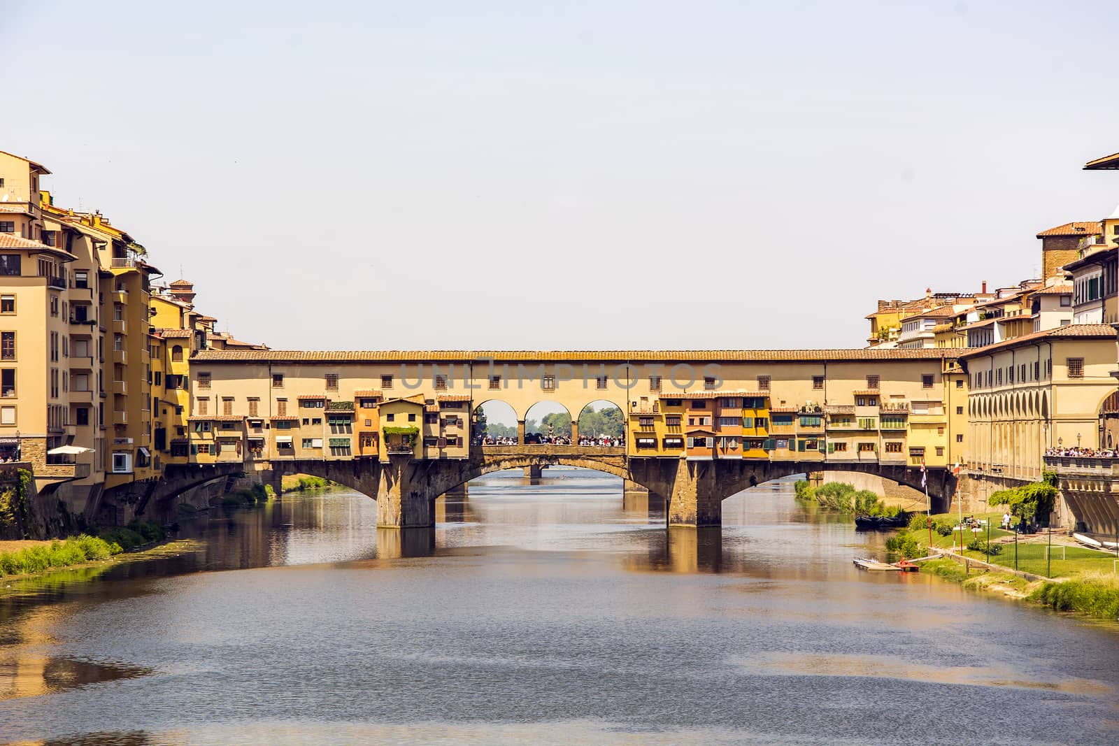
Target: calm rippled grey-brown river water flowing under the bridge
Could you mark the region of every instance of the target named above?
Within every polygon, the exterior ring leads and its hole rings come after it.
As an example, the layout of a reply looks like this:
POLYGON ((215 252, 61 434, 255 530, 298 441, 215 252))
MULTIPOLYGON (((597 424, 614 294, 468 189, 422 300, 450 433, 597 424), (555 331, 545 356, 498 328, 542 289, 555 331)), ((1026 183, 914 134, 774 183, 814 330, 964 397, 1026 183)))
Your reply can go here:
POLYGON ((667 532, 595 472, 439 503, 288 497, 196 550, 0 598, 0 743, 1075 743, 1119 739, 1119 634, 924 576, 790 483, 667 532), (869 545, 869 546, 868 546, 869 545))

